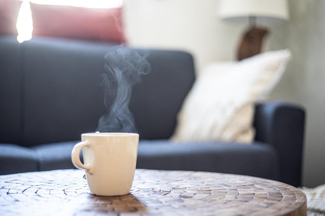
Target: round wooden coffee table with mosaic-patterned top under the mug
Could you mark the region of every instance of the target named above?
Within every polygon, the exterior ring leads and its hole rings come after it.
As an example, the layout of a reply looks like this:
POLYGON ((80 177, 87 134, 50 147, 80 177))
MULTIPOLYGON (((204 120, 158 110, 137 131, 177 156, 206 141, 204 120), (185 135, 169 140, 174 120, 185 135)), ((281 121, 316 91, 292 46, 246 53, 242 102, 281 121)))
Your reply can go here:
POLYGON ((136 170, 130 194, 89 193, 81 170, 0 176, 0 215, 306 215, 297 188, 244 175, 136 170))

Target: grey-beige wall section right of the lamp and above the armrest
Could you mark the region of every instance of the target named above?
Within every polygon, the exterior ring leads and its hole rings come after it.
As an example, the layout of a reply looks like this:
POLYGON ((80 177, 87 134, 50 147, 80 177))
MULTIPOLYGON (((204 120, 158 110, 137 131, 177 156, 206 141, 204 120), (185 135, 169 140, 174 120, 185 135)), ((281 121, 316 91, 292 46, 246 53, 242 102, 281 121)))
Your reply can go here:
POLYGON ((306 109, 303 184, 325 184, 325 1, 289 0, 290 21, 272 30, 269 49, 288 47, 292 61, 272 94, 306 109))

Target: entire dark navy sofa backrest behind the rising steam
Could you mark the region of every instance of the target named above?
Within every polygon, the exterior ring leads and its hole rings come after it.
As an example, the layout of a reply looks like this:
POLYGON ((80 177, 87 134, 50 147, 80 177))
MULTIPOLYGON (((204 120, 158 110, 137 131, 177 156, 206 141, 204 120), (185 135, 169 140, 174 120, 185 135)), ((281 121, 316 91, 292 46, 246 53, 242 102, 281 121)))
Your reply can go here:
MULTIPOLYGON (((0 37, 0 44, 0 143, 78 140, 96 130, 108 112, 99 85, 104 55, 115 44, 48 37, 21 44, 0 37)), ((134 86, 130 110, 140 138, 169 138, 194 81, 193 60, 179 51, 146 53, 151 73, 134 86)))

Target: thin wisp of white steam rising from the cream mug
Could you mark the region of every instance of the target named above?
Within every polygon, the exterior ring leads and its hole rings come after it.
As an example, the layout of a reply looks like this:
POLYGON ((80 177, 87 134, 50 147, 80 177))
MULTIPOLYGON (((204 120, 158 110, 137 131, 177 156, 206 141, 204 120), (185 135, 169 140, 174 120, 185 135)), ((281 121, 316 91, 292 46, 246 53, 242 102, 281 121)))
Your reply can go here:
POLYGON ((134 117, 129 110, 132 87, 149 74, 151 66, 146 56, 125 45, 114 47, 105 55, 102 74, 104 103, 108 113, 100 117, 97 131, 136 133, 134 117))

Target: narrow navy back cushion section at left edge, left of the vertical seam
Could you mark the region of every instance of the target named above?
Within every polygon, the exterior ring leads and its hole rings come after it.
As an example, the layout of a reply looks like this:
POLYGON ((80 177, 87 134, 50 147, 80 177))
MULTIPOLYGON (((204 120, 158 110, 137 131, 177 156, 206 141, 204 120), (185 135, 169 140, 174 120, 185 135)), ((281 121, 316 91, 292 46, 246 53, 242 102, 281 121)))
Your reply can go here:
POLYGON ((20 48, 16 36, 0 36, 0 143, 21 142, 20 48))

